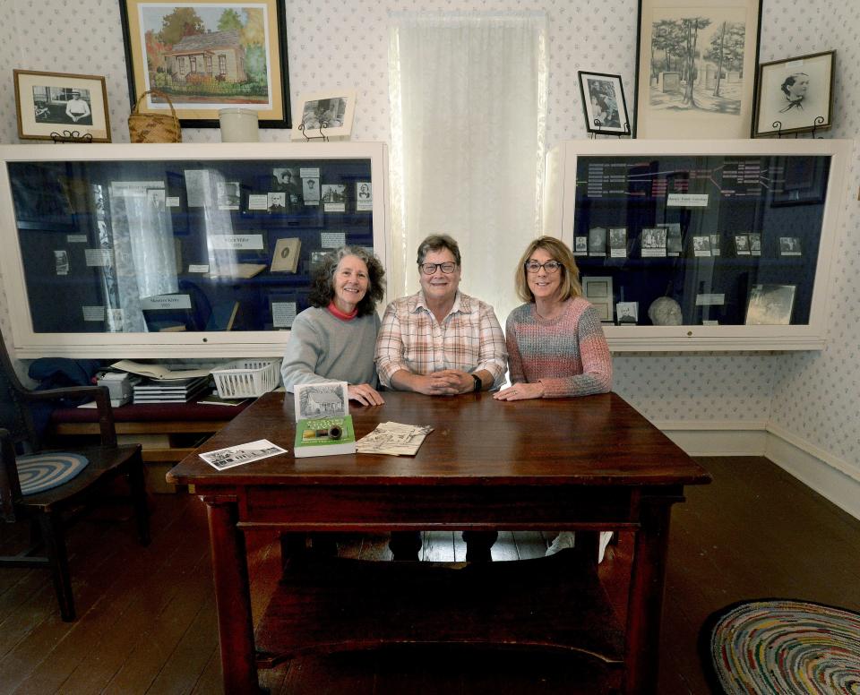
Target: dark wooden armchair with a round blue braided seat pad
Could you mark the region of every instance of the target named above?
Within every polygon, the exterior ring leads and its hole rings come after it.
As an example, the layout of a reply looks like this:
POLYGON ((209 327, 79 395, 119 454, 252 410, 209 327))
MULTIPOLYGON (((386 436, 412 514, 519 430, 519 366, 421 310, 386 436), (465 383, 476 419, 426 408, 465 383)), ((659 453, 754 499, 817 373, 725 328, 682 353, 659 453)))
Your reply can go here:
MULTIPOLYGON (((13 365, 0 339, 0 520, 14 522, 30 520, 29 548, 16 555, 0 556, 0 569, 4 567, 37 567, 50 569, 65 622, 75 619, 72 579, 65 550, 65 529, 74 519, 99 502, 116 499, 111 481, 125 477, 130 501, 133 503, 137 533, 142 545, 150 543, 149 510, 143 486, 143 460, 141 445, 116 443, 113 410, 107 389, 81 386, 51 390, 28 390, 18 380, 13 365), (44 454, 41 441, 33 425, 30 406, 56 399, 94 398, 99 409, 101 442, 96 446, 73 447, 52 457, 31 459, 17 455, 15 450, 44 454), (49 459, 47 465, 46 459, 49 459), (82 464, 82 461, 86 461, 82 464), (27 461, 26 464, 22 461, 27 461), (39 487, 34 471, 47 470, 47 466, 73 461, 71 468, 82 465, 71 479, 49 489, 26 493, 39 487), (22 471, 24 471, 22 473, 22 471), (19 474, 22 474, 21 476, 19 474), (30 476, 34 476, 31 480, 30 476), (25 493, 22 493, 22 478, 25 493), (35 483, 35 485, 32 485, 35 483)), ((126 498, 127 499, 127 498, 126 498)))

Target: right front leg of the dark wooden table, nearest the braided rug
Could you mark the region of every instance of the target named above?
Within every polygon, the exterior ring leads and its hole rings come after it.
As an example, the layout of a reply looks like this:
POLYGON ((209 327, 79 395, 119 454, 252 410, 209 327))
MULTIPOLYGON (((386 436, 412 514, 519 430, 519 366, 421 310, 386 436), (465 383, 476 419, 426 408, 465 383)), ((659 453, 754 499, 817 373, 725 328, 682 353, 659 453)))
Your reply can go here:
POLYGON ((628 695, 657 693, 660 618, 672 502, 675 499, 643 499, 641 502, 641 528, 636 534, 624 647, 624 692, 628 695))

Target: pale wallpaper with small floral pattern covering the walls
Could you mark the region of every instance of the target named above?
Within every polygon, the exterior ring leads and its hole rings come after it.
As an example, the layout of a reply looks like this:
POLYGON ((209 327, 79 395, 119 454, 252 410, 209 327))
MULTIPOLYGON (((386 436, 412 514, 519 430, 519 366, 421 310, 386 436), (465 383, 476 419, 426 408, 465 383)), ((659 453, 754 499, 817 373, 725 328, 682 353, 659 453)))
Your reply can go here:
MULTIPOLYGON (((12 68, 107 77, 114 142, 128 142, 130 110, 125 52, 116 0, 9 0, 13 21, 0 25, 0 141, 18 142, 12 68)), ((390 11, 544 10, 549 25, 547 146, 586 136, 578 70, 622 76, 632 112, 636 0, 319 0, 287 2, 290 93, 337 86, 358 91, 355 140, 387 141, 388 13, 390 11)), ((837 50, 837 127, 826 137, 856 137, 860 116, 860 4, 844 0, 763 0, 761 61, 837 50), (813 26, 816 29, 810 30, 813 26)), ((185 142, 218 142, 217 129, 186 129, 185 142)), ((440 133, 443 137, 443 133, 440 133)), ((261 139, 288 140, 264 130, 261 139)), ((54 145, 49 145, 54 146, 54 145)), ((856 162, 856 157, 854 158, 856 162)), ((615 390, 658 422, 763 422, 772 419, 858 467, 857 393, 860 382, 860 257, 855 166, 847 215, 839 232, 831 289, 830 343, 821 353, 744 355, 622 354, 615 356, 615 390)), ((0 300, 0 328, 8 328, 0 300)))

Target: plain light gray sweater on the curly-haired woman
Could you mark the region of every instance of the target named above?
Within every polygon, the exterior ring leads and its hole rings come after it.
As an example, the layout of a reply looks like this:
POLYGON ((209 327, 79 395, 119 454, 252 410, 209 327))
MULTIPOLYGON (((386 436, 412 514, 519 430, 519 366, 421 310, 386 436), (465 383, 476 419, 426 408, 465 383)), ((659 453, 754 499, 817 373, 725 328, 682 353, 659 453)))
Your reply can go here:
POLYGON ((379 316, 341 321, 328 309, 312 307, 299 313, 280 365, 284 388, 297 383, 348 382, 379 385, 374 366, 379 316))

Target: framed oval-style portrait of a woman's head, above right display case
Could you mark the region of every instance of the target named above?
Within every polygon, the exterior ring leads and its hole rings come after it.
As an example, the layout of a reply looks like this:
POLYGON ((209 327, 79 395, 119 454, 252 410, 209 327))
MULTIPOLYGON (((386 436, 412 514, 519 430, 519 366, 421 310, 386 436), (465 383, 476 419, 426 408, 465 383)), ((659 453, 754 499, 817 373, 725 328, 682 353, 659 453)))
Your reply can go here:
POLYGON ((753 137, 830 128, 835 56, 825 51, 759 65, 753 137))

